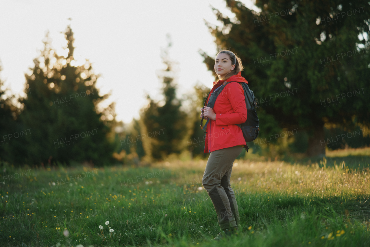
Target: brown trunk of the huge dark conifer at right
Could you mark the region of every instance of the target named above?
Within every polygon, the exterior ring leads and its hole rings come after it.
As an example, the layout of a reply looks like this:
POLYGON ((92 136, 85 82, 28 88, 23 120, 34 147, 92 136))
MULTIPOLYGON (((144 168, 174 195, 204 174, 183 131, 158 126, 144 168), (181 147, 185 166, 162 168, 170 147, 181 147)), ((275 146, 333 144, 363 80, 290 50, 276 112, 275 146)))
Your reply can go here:
POLYGON ((310 157, 324 157, 325 146, 324 126, 314 127, 308 139, 307 155, 310 157))

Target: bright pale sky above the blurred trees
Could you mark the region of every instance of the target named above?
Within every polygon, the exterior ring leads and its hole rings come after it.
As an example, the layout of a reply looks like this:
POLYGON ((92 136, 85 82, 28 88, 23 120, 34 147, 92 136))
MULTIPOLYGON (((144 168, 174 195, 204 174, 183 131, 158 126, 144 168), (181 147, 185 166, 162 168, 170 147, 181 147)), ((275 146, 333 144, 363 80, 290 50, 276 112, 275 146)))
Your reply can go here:
MULTIPOLYGON (((242 1, 249 8, 251 0, 242 1)), ((100 94, 111 91, 107 104, 115 101, 117 120, 125 123, 139 117, 147 105, 145 93, 161 99, 162 83, 156 71, 162 69, 160 51, 172 39, 171 59, 179 62, 179 98, 190 93, 198 82, 212 87, 198 50, 216 54, 213 37, 204 20, 220 26, 211 5, 234 17, 223 0, 188 1, 44 1, 0 0, 1 79, 16 96, 23 96, 24 73, 43 48, 42 40, 50 31, 52 46, 63 54, 68 24, 74 32, 74 58, 77 64, 92 62, 100 94), (72 21, 67 20, 72 18, 72 21)))

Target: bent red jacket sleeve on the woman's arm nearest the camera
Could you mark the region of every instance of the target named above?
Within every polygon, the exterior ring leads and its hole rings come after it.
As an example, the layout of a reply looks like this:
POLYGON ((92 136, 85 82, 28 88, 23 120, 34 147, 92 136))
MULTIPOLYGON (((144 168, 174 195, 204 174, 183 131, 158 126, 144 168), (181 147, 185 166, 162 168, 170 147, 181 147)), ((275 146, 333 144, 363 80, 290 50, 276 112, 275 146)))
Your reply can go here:
MULTIPOLYGON (((241 124, 247 120, 247 107, 245 105, 244 90, 239 83, 229 83, 227 97, 234 113, 216 114, 216 125, 241 124)), ((225 90, 225 89, 224 89, 225 90)))

